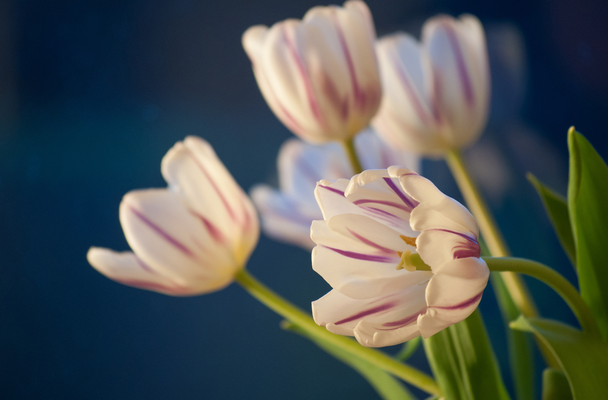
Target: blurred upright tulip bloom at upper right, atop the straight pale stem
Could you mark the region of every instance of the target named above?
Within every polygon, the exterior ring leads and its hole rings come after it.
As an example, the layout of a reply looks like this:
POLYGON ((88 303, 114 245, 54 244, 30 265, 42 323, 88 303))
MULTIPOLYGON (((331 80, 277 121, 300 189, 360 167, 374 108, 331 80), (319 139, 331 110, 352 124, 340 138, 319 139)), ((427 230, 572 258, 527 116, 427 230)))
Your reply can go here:
POLYGON ((488 119, 490 77, 481 22, 430 18, 422 43, 396 33, 376 44, 384 98, 372 124, 398 148, 440 156, 477 139, 488 119))

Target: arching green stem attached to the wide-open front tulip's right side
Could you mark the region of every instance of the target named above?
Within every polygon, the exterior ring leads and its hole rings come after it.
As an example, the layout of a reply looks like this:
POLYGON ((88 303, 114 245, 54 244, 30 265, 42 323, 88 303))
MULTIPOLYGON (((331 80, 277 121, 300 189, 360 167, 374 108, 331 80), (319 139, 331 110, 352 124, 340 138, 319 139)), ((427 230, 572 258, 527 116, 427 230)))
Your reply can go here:
POLYGON ((510 271, 526 274, 548 284, 565 300, 584 331, 600 336, 598 325, 587 304, 566 278, 554 269, 537 261, 516 257, 482 257, 490 271, 510 271))

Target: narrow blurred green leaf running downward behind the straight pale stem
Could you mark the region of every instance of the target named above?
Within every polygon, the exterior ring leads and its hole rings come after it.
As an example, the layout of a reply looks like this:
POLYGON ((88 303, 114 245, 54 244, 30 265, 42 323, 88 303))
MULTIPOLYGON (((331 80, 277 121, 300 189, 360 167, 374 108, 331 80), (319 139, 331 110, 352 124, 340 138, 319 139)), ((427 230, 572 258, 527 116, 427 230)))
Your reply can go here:
POLYGON ((534 358, 528 333, 508 328, 509 323, 519 317, 519 309, 506 289, 500 272, 490 272, 490 282, 496 294, 500 314, 506 326, 511 377, 517 400, 534 400, 534 358))

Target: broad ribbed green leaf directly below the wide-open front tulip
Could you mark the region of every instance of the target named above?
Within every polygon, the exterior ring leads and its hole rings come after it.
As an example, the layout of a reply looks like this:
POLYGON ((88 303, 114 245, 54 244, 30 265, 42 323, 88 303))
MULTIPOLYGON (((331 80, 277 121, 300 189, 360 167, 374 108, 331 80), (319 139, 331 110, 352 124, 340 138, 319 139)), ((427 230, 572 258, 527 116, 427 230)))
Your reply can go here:
POLYGON ((425 339, 424 350, 446 399, 509 399, 478 310, 425 339))

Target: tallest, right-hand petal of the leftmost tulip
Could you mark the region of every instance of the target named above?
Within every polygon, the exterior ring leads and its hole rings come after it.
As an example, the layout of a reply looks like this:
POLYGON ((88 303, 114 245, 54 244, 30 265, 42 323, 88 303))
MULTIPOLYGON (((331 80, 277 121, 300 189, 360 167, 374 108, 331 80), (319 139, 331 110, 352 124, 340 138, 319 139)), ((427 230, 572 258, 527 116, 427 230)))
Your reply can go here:
POLYGON ((171 190, 184 195, 213 238, 229 243, 243 264, 258 240, 257 214, 209 143, 188 136, 163 157, 161 170, 171 190))

